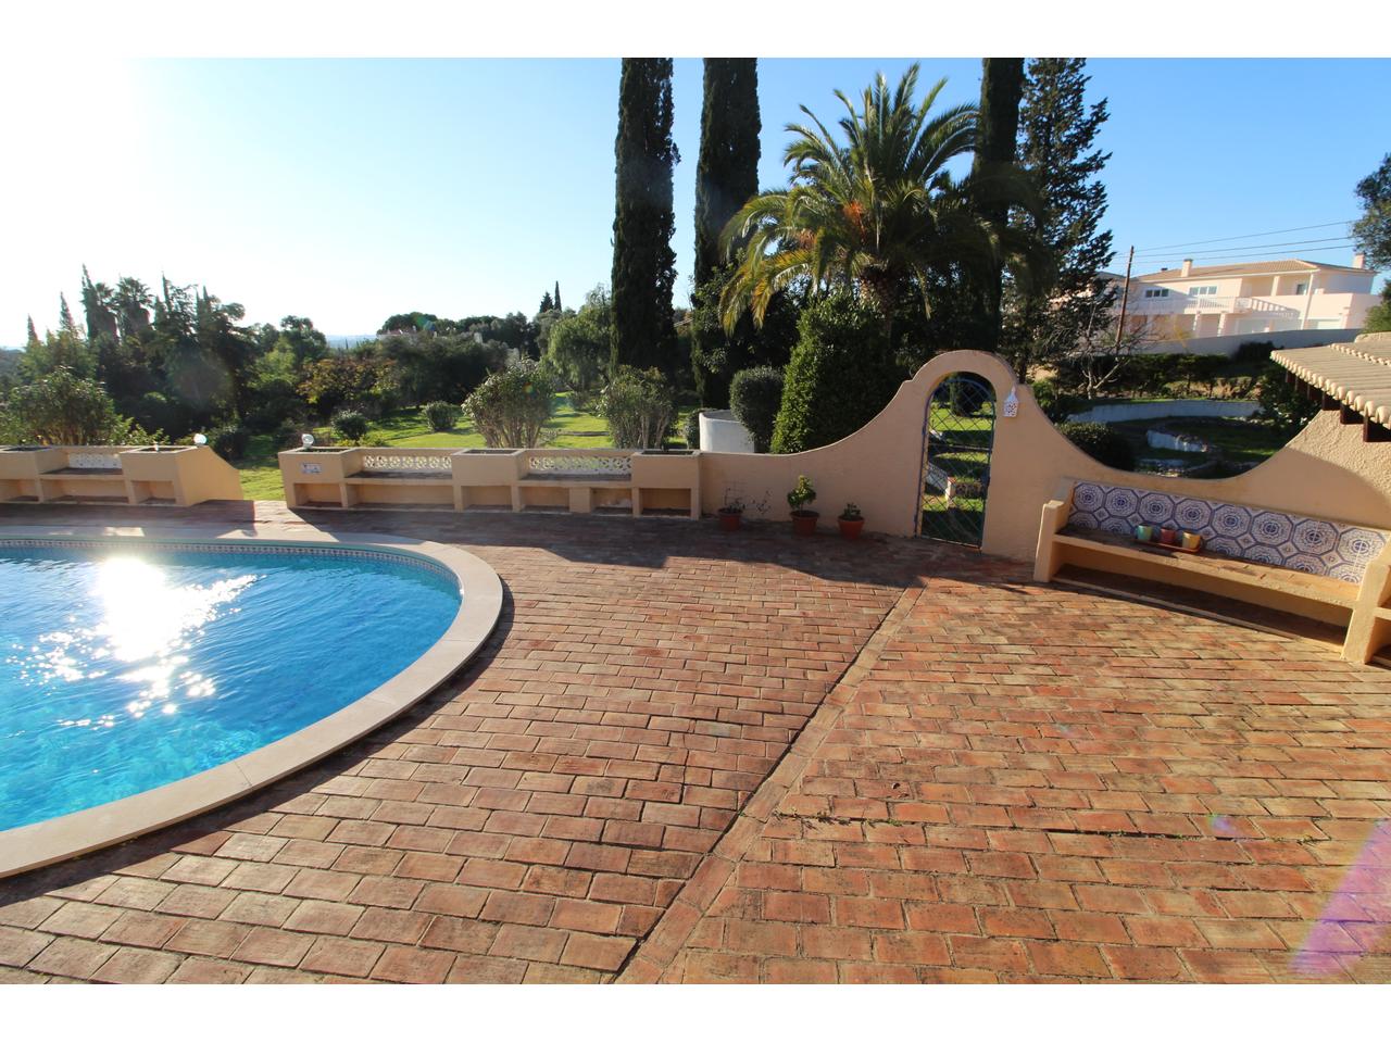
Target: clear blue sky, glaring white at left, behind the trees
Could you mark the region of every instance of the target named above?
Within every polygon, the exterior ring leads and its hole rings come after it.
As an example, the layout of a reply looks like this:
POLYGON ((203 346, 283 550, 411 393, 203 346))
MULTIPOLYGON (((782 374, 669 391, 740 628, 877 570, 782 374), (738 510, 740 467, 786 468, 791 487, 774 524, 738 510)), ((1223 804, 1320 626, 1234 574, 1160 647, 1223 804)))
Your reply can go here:
MULTIPOLYGON (((922 58, 946 102, 979 61, 922 58)), ((783 125, 832 90, 896 79, 908 60, 759 63, 764 186, 785 181, 783 125)), ((1387 60, 1093 60, 1107 97, 1107 223, 1124 249, 1345 221, 1391 150, 1387 60)), ((11 157, 0 213, 0 343, 25 314, 57 324, 93 278, 206 284, 253 321, 305 314, 362 334, 394 312, 531 314, 606 282, 616 60, 143 60, 0 83, 11 157), (17 90, 17 93, 11 93, 17 90)), ((701 63, 676 61, 677 305, 689 293, 701 63)), ((1314 228, 1231 243, 1344 236, 1314 228)), ((1348 263, 1351 248, 1273 246, 1348 263)), ((1153 270, 1195 246, 1142 254, 1153 270)), ((1220 260, 1200 257, 1199 263, 1220 260)))

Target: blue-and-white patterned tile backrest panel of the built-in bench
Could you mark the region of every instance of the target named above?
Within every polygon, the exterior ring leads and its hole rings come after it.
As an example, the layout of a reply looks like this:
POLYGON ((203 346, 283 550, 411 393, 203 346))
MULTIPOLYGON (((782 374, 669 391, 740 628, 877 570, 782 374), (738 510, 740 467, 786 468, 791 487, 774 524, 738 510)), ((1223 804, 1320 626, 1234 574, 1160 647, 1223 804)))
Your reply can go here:
POLYGON ((1376 528, 1095 481, 1072 487, 1068 523, 1127 534, 1138 524, 1171 526, 1200 534, 1216 553, 1348 583, 1362 583, 1387 545, 1387 534, 1376 528))

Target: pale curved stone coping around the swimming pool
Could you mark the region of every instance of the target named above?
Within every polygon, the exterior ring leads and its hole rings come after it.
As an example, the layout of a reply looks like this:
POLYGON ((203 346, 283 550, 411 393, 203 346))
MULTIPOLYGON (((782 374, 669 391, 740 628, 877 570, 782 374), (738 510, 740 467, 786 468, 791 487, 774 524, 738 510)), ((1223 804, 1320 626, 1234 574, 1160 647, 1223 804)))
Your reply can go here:
MULTIPOLYGON (((221 526, 0 526, 7 540, 92 544, 157 541, 341 547, 423 558, 448 569, 462 591, 444 634, 415 662, 339 711, 231 761, 153 790, 58 818, 0 832, 0 879, 163 829, 268 786, 369 736, 438 688, 467 663, 497 627, 502 580, 481 558, 447 544, 377 533, 257 524, 221 526)), ((327 624, 327 626, 331 626, 327 624)))

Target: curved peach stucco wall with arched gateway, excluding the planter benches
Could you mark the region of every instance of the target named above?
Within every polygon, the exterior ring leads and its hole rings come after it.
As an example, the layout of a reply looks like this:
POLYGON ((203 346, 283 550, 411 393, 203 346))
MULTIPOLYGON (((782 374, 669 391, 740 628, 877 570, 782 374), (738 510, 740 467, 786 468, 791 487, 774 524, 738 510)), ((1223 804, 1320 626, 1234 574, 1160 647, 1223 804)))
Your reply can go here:
POLYGON ((846 501, 865 513, 867 528, 911 535, 921 503, 922 437, 928 399, 953 373, 975 373, 1010 391, 1018 414, 995 428, 990 492, 982 549, 1021 560, 1034 558, 1039 512, 1067 480, 1091 480, 1202 496, 1335 522, 1391 527, 1391 444, 1363 442, 1362 428, 1338 423, 1337 412, 1319 413, 1270 460, 1232 478, 1166 478, 1117 471, 1093 460, 1064 438, 996 355, 946 352, 928 362, 874 420, 839 442, 786 456, 701 453, 702 506, 716 510, 726 498, 743 499, 753 517, 786 517, 786 492, 798 474, 811 477, 814 505, 826 519, 846 501))

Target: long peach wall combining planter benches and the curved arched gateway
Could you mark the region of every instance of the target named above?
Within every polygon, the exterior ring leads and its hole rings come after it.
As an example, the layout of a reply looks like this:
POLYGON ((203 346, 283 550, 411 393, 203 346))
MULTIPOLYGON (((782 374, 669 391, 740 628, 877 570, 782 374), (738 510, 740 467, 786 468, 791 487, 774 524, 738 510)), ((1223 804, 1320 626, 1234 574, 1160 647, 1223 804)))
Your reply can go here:
POLYGON ((281 453, 281 473, 291 506, 611 509, 700 517, 737 501, 754 519, 786 519, 787 491, 805 474, 817 488, 811 506, 821 512, 823 524, 854 502, 864 512, 868 531, 912 535, 922 510, 928 403, 936 387, 954 373, 982 378, 997 403, 1011 392, 1017 402, 1013 416, 999 410, 995 427, 982 538, 986 552, 1031 560, 1042 506, 1071 481, 1128 485, 1355 524, 1391 524, 1391 444, 1363 442, 1360 428, 1341 424, 1337 410, 1319 413, 1288 446, 1231 478, 1117 471, 1074 446, 1038 407, 1029 389, 1015 385, 1010 367, 982 352, 933 357, 862 428, 801 453, 316 449, 281 453), (431 459, 406 464, 402 460, 410 452, 431 459), (618 463, 602 463, 601 458, 618 463), (605 474, 609 467, 616 469, 613 474, 605 474))

